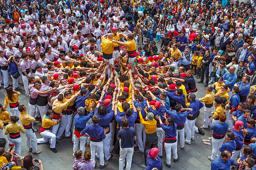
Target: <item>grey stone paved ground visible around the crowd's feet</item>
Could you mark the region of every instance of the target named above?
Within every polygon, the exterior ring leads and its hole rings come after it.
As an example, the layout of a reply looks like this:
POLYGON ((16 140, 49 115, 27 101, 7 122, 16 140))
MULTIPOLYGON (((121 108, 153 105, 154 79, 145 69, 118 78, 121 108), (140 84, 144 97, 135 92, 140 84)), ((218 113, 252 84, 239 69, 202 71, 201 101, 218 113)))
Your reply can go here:
MULTIPOLYGON (((160 45, 157 45, 158 47, 160 45)), ((196 82, 199 81, 199 79, 196 79, 196 82)), ((12 81, 10 79, 10 84, 12 84, 12 81)), ((21 86, 20 86, 21 87, 21 86)), ((23 86, 21 87, 23 88, 23 86)), ((204 87, 204 83, 197 84, 198 88, 198 94, 197 98, 203 97, 206 92, 206 88, 204 87)), ((22 93, 19 96, 19 102, 21 104, 26 105, 28 108, 28 100, 29 97, 25 96, 25 91, 20 90, 22 93)), ((6 91, 3 89, 0 90, 0 103, 4 104, 4 97, 5 97, 6 91)), ((7 108, 8 111, 10 111, 9 105, 7 108)), ((203 122, 203 112, 204 108, 202 108, 200 111, 200 116, 197 118, 196 125, 199 127, 203 122)), ((35 125, 37 129, 39 129, 41 124, 35 125)), ((39 130, 38 130, 39 131, 39 130)), ((4 138, 7 139, 6 135, 3 135, 4 138)), ((36 132, 37 138, 41 138, 41 135, 36 132)), ((164 160, 166 160, 165 153, 163 153, 162 157, 162 163, 163 163, 163 169, 164 170, 210 170, 211 162, 207 159, 207 156, 211 154, 212 146, 205 145, 202 143, 202 139, 205 139, 207 137, 211 136, 210 130, 205 130, 205 135, 202 136, 201 134, 195 133, 195 140, 191 142, 191 145, 185 144, 185 147, 183 150, 180 150, 179 147, 179 141, 178 141, 178 156, 179 161, 177 163, 174 163, 172 161, 171 168, 167 168, 164 165, 164 160)), ((22 156, 26 156, 28 154, 32 154, 28 152, 28 148, 26 145, 26 137, 23 133, 21 133, 22 137, 22 146, 21 146, 21 153, 22 156)), ((7 148, 8 149, 8 146, 7 148)), ((39 155, 33 155, 33 158, 40 159, 43 162, 44 170, 72 170, 73 165, 73 144, 71 139, 63 139, 60 140, 58 144, 56 144, 56 149, 58 150, 58 153, 53 153, 50 150, 49 144, 41 144, 38 145, 38 150, 42 150, 42 153, 39 155)), ((86 147, 86 150, 90 151, 90 147, 86 147)), ((116 170, 118 169, 118 156, 113 156, 108 163, 109 165, 103 169, 105 170, 116 170)), ((172 157, 173 160, 173 157, 172 157)), ((99 163, 99 160, 97 160, 99 163)), ((144 156, 142 153, 135 153, 133 155, 133 161, 132 161, 132 170, 143 170, 143 168, 140 167, 141 164, 144 163, 144 156)), ((35 164, 36 165, 36 164, 35 164)), ((99 168, 99 165, 97 164, 97 169, 99 168)))

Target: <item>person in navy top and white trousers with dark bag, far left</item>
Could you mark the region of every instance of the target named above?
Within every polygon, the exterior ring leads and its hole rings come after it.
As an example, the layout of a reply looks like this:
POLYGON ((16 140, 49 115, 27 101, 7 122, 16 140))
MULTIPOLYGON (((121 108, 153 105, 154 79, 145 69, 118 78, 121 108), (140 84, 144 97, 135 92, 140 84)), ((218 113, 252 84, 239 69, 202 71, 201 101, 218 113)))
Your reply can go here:
POLYGON ((13 75, 14 76, 20 75, 20 73, 18 71, 18 64, 19 63, 16 61, 16 59, 15 59, 15 57, 13 55, 11 55, 8 58, 7 62, 8 62, 9 68, 10 68, 10 75, 11 75, 11 78, 13 80, 13 88, 14 88, 14 90, 21 90, 20 87, 18 87, 19 79, 13 77, 13 75))

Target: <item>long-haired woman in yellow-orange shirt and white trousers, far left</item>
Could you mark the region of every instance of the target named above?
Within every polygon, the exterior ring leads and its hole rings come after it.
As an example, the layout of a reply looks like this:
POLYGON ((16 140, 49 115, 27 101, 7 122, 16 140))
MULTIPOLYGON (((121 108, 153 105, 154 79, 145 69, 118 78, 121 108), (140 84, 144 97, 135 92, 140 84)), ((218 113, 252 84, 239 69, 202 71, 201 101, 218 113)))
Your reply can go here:
MULTIPOLYGON (((16 92, 13 87, 7 87, 6 88, 6 95, 5 95, 5 104, 4 104, 4 108, 7 107, 8 103, 10 105, 10 112, 11 112, 11 115, 14 116, 20 116, 20 111, 18 110, 18 107, 20 105, 20 103, 18 102, 19 100, 19 95, 20 95, 20 92, 16 92)), ((19 121, 20 123, 20 121, 19 121)))

